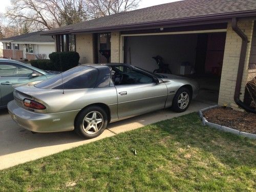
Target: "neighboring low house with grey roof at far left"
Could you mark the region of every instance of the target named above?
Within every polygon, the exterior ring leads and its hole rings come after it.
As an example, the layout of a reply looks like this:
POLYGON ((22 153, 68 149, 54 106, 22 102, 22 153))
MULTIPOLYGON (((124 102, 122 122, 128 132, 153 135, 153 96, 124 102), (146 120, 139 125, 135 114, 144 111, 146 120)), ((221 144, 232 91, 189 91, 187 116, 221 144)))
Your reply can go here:
POLYGON ((41 31, 27 33, 9 38, 3 38, 3 57, 16 60, 36 59, 37 54, 49 54, 55 51, 54 39, 51 36, 41 36, 41 31))

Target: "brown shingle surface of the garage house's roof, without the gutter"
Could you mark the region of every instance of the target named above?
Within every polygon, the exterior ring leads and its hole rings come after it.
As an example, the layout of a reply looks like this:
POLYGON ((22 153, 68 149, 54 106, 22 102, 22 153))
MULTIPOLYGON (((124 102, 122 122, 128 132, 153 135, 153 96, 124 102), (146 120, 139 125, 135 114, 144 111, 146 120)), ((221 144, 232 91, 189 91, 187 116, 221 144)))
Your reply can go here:
POLYGON ((88 31, 98 28, 136 25, 164 20, 175 20, 191 17, 196 18, 237 12, 256 12, 256 0, 184 0, 104 16, 74 25, 63 26, 46 31, 45 33, 82 30, 88 31))

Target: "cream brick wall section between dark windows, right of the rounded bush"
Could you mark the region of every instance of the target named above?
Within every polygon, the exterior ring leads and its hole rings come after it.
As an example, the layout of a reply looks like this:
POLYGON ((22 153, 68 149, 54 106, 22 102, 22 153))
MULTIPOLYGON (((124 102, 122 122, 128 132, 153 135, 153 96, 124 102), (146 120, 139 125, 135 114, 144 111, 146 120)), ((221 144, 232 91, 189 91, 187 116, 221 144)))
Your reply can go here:
POLYGON ((76 51, 80 55, 80 63, 93 63, 93 34, 76 35, 76 51))

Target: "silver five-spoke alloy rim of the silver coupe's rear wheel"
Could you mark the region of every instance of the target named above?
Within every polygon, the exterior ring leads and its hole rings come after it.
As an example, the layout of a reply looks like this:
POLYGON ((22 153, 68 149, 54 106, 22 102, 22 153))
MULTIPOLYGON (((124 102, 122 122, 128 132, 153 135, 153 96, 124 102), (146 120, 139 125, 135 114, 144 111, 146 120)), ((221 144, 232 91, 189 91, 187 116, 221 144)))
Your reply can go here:
POLYGON ((82 122, 82 128, 87 134, 97 133, 103 126, 103 115, 98 111, 88 113, 82 122))

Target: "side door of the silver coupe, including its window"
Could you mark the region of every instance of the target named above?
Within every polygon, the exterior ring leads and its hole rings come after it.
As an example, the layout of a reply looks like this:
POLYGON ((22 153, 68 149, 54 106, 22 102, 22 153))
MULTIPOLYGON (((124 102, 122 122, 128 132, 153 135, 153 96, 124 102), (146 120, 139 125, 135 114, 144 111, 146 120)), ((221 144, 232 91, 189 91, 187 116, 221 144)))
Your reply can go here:
POLYGON ((165 83, 158 84, 153 76, 130 67, 120 66, 115 70, 114 83, 117 90, 119 118, 164 108, 167 97, 165 83))

